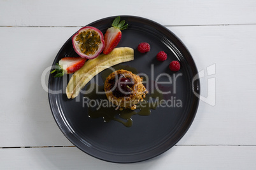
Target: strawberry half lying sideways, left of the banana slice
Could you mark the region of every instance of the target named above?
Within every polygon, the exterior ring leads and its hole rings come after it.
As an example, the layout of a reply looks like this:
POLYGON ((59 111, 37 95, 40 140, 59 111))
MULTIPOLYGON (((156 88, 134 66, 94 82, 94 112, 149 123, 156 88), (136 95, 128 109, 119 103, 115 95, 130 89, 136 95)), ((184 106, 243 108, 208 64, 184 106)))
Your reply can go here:
POLYGON ((86 58, 82 57, 64 57, 56 63, 56 69, 51 72, 56 72, 54 77, 62 77, 64 74, 73 74, 85 64, 86 58))

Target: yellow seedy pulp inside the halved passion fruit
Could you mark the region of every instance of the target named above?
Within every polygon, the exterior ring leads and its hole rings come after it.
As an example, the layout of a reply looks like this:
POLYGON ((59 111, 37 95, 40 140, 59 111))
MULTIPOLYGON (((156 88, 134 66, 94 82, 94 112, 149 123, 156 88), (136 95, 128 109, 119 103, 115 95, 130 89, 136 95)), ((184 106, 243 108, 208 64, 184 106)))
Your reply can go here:
POLYGON ((101 37, 95 30, 84 30, 76 36, 80 51, 85 55, 94 55, 101 44, 101 37))

